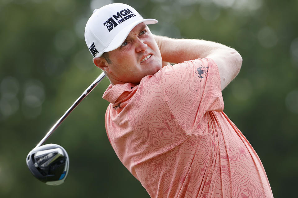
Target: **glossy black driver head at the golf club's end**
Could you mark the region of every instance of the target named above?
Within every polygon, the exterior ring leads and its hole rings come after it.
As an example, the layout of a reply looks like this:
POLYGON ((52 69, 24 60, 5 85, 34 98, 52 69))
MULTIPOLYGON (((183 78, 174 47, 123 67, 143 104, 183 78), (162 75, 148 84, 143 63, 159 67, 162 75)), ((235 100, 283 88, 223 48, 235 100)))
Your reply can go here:
POLYGON ((68 174, 68 154, 57 144, 45 144, 32 149, 26 163, 34 177, 48 185, 63 183, 68 174))

